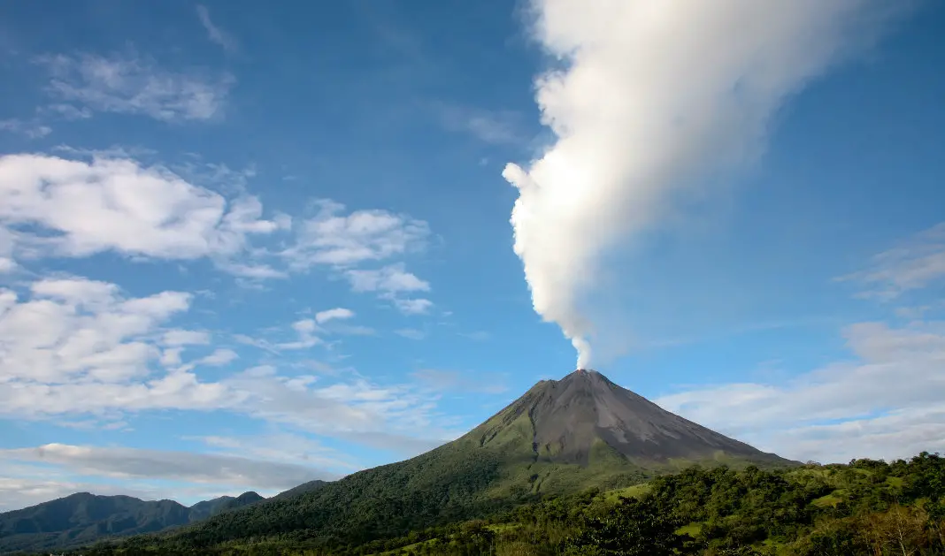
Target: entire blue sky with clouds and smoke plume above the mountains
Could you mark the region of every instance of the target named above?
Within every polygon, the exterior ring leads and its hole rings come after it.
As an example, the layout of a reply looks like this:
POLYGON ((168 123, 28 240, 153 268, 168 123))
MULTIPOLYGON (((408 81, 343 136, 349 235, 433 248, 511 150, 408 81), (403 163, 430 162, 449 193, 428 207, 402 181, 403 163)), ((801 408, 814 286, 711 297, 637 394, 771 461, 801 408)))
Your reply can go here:
POLYGON ((945 8, 785 2, 813 35, 751 58, 736 0, 578 4, 0 8, 0 510, 403 459, 573 370, 569 323, 765 450, 945 449, 945 8))

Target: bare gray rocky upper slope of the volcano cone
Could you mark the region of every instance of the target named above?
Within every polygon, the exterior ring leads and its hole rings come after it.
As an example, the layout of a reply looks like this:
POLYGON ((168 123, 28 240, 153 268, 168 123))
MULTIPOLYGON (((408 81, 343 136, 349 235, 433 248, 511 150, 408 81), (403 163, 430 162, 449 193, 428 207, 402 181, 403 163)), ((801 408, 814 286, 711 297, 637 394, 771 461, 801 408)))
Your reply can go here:
POLYGON ((513 418, 527 413, 534 431, 533 449, 541 458, 558 463, 586 464, 597 439, 641 464, 720 456, 790 463, 667 412, 591 370, 542 380, 503 413, 513 418))

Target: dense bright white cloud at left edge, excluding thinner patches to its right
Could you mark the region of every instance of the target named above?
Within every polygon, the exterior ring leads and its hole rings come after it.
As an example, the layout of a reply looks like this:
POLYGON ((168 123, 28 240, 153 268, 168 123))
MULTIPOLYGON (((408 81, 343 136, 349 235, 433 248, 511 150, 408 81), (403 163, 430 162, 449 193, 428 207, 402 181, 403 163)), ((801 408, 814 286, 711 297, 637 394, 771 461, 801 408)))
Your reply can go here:
POLYGON ((231 257, 267 234, 254 197, 228 202, 168 170, 134 160, 0 157, 0 227, 25 254, 85 257, 102 251, 162 259, 231 257))

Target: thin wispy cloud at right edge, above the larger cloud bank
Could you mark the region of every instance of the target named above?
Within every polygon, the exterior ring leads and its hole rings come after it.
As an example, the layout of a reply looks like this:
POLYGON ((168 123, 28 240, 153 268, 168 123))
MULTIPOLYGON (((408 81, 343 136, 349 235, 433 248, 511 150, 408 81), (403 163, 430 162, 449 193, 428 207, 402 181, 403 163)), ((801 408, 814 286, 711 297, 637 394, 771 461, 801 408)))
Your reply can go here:
POLYGON ((945 278, 945 223, 930 227, 903 244, 873 257, 869 268, 841 280, 868 286, 865 297, 890 300, 945 278))

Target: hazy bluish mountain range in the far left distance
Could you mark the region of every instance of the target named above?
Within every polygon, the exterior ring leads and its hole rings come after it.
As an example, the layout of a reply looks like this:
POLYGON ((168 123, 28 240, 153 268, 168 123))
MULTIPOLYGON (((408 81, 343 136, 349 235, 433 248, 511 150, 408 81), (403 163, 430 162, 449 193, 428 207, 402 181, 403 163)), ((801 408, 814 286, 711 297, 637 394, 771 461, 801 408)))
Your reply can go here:
POLYGON ((174 500, 145 501, 77 493, 0 514, 0 553, 89 544, 104 537, 162 531, 265 498, 254 492, 218 497, 187 508, 174 500))

